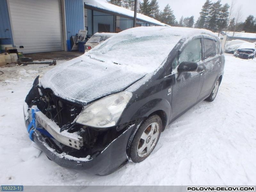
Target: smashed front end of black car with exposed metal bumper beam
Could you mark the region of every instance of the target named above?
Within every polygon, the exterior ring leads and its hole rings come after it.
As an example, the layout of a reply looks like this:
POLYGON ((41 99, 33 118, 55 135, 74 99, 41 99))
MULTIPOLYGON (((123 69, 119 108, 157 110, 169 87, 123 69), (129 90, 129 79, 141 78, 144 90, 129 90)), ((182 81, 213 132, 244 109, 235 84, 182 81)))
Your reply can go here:
POLYGON ((36 126, 33 140, 49 159, 57 164, 84 169, 98 175, 114 172, 127 162, 126 147, 136 122, 124 125, 95 128, 76 122, 84 106, 54 95, 51 89, 39 85, 36 77, 24 103, 25 124, 28 127, 34 109, 36 126))

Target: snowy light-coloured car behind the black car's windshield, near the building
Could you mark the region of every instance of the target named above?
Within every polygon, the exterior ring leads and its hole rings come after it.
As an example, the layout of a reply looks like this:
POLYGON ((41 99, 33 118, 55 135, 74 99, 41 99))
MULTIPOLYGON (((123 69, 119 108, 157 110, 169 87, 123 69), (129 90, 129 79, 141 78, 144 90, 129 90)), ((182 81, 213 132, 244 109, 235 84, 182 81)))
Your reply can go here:
POLYGON ((91 50, 93 47, 96 47, 98 44, 101 44, 103 41, 107 40, 109 37, 116 35, 116 33, 95 33, 85 44, 85 52, 91 50))

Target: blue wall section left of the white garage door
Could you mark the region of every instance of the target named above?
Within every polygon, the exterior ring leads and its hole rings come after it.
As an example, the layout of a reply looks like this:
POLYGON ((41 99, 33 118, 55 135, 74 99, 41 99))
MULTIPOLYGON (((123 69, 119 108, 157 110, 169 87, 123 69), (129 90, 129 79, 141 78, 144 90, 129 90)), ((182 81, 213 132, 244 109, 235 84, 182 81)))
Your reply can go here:
POLYGON ((0 1, 0 45, 13 44, 12 30, 6 0, 0 1))

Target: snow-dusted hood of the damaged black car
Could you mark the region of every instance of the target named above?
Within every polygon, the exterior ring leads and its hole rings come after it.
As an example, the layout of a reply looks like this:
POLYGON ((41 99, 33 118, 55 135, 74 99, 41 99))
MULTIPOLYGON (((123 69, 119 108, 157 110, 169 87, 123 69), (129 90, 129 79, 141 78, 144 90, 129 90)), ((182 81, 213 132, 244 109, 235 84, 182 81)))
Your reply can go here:
POLYGON ((86 105, 123 91, 145 75, 128 66, 101 62, 83 55, 48 71, 40 84, 50 88, 58 97, 86 105))

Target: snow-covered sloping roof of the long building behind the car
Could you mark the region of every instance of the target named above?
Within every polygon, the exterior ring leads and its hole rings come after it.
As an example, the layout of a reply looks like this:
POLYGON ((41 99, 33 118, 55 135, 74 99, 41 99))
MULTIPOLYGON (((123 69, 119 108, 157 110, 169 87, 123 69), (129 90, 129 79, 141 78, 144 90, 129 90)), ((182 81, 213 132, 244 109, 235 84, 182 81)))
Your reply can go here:
MULTIPOLYGON (((132 17, 132 18, 134 16, 134 12, 129 9, 125 9, 124 7, 119 7, 119 6, 116 6, 116 5, 113 5, 110 3, 101 2, 98 0, 85 0, 84 4, 101 9, 101 10, 121 14, 124 16, 132 17)), ((149 23, 159 25, 159 26, 168 26, 164 23, 161 23, 158 20, 155 20, 151 17, 148 17, 148 16, 140 14, 140 13, 137 13, 137 20, 147 21, 149 23)))

